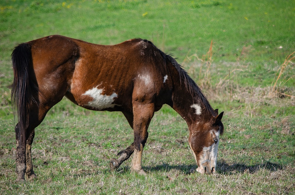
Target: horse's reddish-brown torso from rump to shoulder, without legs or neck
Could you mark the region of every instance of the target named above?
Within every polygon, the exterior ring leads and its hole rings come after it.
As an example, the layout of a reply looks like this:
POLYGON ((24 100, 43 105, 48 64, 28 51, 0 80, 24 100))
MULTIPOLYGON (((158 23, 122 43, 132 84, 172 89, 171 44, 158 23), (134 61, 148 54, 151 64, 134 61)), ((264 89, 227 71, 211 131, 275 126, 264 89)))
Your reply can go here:
POLYGON ((84 108, 132 110, 132 98, 155 101, 170 83, 160 50, 146 40, 99 45, 53 35, 29 43, 40 91, 84 108))

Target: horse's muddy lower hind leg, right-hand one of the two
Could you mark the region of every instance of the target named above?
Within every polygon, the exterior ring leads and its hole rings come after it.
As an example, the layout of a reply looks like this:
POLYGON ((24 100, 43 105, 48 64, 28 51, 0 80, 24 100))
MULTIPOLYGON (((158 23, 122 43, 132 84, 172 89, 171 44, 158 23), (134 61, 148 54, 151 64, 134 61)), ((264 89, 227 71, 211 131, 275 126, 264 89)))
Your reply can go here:
POLYGON ((30 133, 30 135, 27 139, 27 145, 26 145, 26 162, 27 162, 26 174, 27 174, 29 180, 32 180, 36 177, 36 174, 33 170, 32 152, 31 152, 31 147, 32 147, 32 142, 33 142, 34 136, 35 136, 35 129, 33 129, 32 132, 30 133))

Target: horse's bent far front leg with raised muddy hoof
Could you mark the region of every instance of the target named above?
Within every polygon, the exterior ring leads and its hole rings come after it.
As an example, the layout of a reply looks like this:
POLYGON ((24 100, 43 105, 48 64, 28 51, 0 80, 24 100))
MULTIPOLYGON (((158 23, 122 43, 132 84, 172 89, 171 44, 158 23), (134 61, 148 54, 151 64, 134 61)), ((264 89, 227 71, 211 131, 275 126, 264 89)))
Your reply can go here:
MULTIPOLYGON (((129 112, 123 112, 124 116, 126 117, 129 125, 131 126, 131 128, 133 129, 133 114, 129 113, 129 112)), ((119 168, 119 166, 126 161, 131 154, 134 152, 134 143, 132 143, 130 146, 128 146, 125 150, 120 151, 117 156, 119 156, 119 158, 112 158, 110 161, 110 168, 111 170, 117 169, 119 168)))

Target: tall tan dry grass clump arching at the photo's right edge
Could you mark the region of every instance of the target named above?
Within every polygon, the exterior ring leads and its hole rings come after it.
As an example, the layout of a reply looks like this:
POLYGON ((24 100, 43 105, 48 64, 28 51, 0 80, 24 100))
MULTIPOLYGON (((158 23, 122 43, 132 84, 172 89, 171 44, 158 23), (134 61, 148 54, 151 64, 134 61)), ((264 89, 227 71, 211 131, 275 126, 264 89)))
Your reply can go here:
MULTIPOLYGON (((286 70, 293 70, 294 69, 295 63, 292 62, 293 60, 295 60, 295 51, 286 57, 284 63, 277 70, 276 76, 273 78, 273 82, 271 84, 271 89, 270 89, 270 91, 268 93, 268 97, 270 97, 270 98, 276 97, 276 95, 278 93, 281 94, 281 95, 286 95, 286 96, 293 97, 293 98, 295 97, 295 96, 292 96, 292 95, 288 95, 288 94, 278 92, 278 87, 277 87, 278 80, 282 77, 283 73, 286 70), (275 79, 276 79, 276 81, 275 81, 275 79)), ((287 79, 286 82, 288 82, 294 76, 295 75, 291 76, 289 79, 287 79)))

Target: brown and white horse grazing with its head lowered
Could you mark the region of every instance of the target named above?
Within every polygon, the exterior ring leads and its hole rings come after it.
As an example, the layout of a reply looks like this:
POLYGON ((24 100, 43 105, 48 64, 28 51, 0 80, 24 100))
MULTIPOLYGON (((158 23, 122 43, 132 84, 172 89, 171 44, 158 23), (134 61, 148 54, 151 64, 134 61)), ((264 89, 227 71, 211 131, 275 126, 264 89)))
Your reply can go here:
POLYGON ((213 110, 196 83, 170 55, 153 43, 131 39, 98 45, 53 35, 22 43, 12 52, 13 107, 17 109, 17 180, 36 175, 31 146, 35 128, 64 96, 90 110, 121 111, 134 131, 134 142, 110 161, 118 168, 134 153, 131 171, 142 169, 148 126, 163 104, 189 127, 189 146, 200 173, 216 169, 223 112, 213 110))

